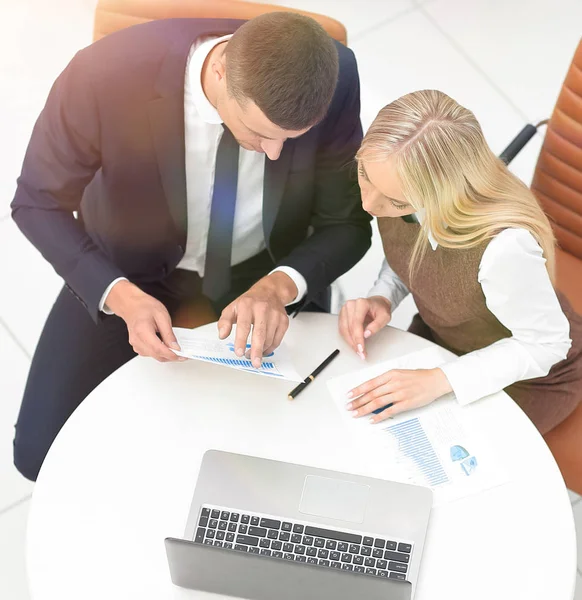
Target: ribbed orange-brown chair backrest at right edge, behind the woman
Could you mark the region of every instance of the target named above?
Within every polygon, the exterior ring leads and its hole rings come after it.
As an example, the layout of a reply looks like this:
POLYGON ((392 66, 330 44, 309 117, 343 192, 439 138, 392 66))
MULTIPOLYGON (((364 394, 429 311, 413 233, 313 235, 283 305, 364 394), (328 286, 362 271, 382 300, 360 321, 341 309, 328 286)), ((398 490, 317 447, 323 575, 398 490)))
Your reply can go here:
POLYGON ((531 189, 560 248, 582 259, 582 41, 548 123, 531 189))

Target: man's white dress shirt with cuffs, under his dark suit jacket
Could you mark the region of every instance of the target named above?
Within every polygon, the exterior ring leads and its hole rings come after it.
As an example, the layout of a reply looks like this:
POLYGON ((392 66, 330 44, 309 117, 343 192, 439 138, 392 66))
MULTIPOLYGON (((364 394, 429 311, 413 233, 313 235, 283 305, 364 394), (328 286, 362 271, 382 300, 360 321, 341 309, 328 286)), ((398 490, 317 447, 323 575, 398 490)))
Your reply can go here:
MULTIPOLYGON (((178 263, 178 269, 196 271, 204 276, 206 245, 210 226, 210 208, 214 188, 214 171, 218 143, 224 131, 218 111, 202 89, 202 67, 206 57, 218 44, 230 39, 230 35, 220 38, 198 40, 192 46, 184 82, 184 127, 186 146, 186 196, 188 211, 188 231, 186 251, 178 263)), ((259 254, 266 248, 263 233, 263 179, 265 155, 240 148, 238 162, 238 184, 236 190, 236 211, 232 239, 231 265, 237 265, 259 254)), ((297 296, 291 302, 298 302, 307 292, 305 278, 291 267, 278 267, 274 271, 286 273, 297 286, 297 296)), ((105 300, 111 288, 120 280, 111 282, 101 298, 99 309, 110 314, 105 300)))

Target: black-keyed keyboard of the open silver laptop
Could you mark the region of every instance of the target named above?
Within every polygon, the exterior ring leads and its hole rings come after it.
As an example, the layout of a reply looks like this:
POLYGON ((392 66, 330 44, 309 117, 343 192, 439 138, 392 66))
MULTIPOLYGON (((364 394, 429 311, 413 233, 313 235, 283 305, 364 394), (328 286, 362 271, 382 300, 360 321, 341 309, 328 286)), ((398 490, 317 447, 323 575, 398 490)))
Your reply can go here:
POLYGON ((194 541, 330 569, 406 580, 412 543, 204 505, 194 541))

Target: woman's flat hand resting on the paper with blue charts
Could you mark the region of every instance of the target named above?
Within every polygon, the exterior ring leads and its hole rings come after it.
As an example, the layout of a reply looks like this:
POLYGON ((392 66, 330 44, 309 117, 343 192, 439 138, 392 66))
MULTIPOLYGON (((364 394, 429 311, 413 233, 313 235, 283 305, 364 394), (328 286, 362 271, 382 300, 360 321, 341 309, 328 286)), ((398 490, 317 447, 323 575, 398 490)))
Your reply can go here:
POLYGON ((348 398, 355 400, 346 408, 352 411, 353 417, 363 417, 386 407, 370 418, 371 423, 379 423, 406 410, 426 406, 451 391, 451 384, 441 369, 395 369, 351 390, 348 398))

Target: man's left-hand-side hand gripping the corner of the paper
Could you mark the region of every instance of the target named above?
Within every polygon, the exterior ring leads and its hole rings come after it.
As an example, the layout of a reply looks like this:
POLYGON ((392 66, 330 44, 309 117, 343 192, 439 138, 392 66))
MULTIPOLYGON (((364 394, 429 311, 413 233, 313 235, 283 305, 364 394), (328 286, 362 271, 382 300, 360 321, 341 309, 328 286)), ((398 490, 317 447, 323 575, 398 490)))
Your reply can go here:
POLYGON ((127 324, 129 343, 137 354, 160 362, 186 360, 169 350, 179 350, 180 346, 172 331, 170 314, 160 301, 129 281, 119 281, 111 288, 106 304, 127 324))

